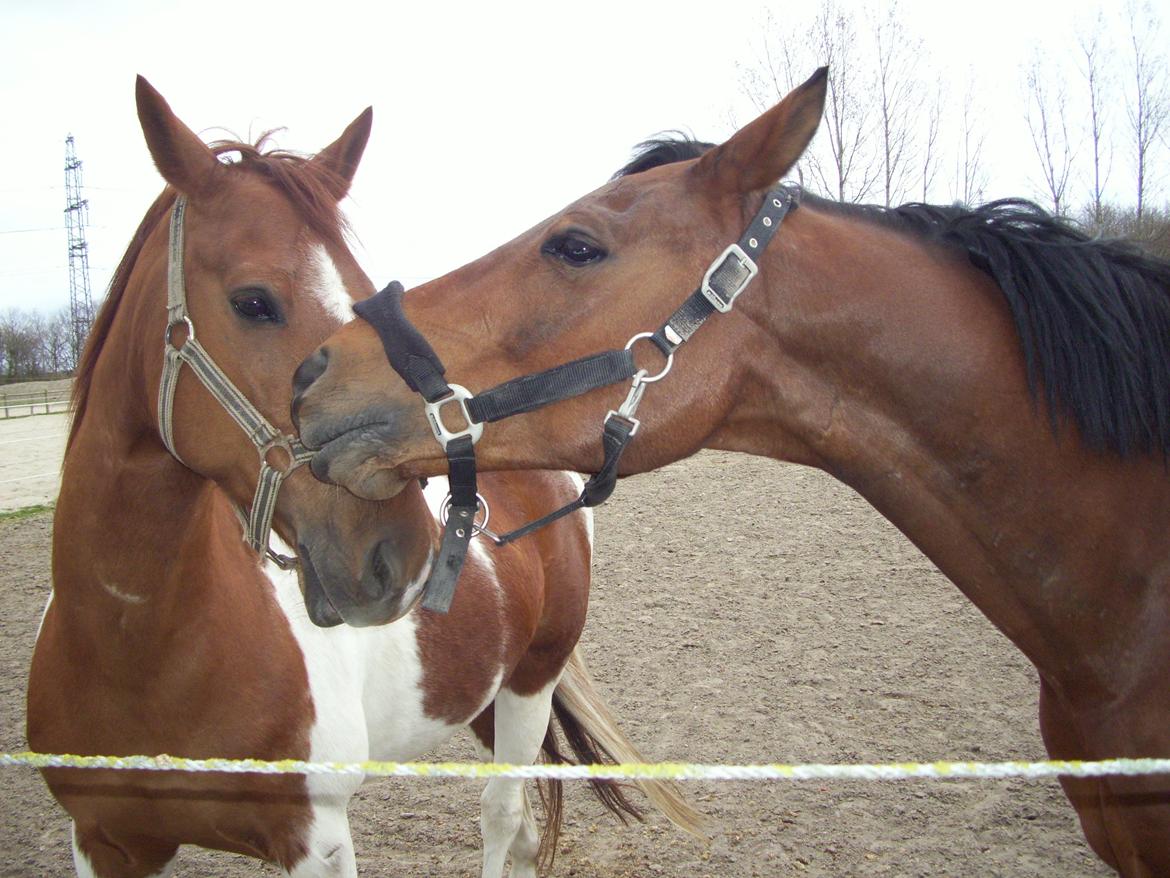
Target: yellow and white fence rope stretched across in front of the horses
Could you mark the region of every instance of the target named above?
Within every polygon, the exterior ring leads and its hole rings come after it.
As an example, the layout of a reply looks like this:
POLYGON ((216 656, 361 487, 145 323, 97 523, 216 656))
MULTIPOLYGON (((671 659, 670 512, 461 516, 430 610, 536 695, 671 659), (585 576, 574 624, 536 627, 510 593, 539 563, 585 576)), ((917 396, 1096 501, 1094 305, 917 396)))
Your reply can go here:
POLYGON ((1106 777, 1168 774, 1170 759, 1107 759, 1096 762, 886 762, 874 764, 753 766, 659 762, 629 764, 537 764, 497 762, 304 762, 254 759, 184 759, 181 756, 71 756, 49 753, 0 753, 0 768, 104 768, 146 771, 226 771, 233 774, 365 775, 370 777, 522 777, 560 781, 897 781, 911 778, 1002 780, 1106 777))

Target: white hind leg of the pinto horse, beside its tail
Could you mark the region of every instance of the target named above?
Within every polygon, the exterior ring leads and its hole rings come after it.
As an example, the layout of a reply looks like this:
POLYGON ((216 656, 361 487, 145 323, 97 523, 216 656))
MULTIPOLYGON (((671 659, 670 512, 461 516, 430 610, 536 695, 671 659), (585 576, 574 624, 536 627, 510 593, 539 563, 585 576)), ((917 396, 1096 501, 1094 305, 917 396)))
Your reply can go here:
MULTIPOLYGON (((496 695, 497 762, 529 766, 541 754, 549 728, 556 680, 532 695, 517 695, 507 688, 496 695)), ((541 837, 524 791, 524 781, 493 777, 481 798, 483 834, 483 878, 501 878, 509 850, 514 878, 536 878, 536 853, 541 837)))

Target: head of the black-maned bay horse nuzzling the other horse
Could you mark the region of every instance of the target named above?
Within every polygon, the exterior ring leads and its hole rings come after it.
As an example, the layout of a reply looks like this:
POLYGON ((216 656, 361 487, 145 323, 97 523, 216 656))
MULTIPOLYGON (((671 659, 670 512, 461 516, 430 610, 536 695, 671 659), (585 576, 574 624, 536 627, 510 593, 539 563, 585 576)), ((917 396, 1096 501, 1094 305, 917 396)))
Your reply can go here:
MULTIPOLYGON (((479 392, 596 351, 632 345, 647 375, 665 351, 638 342, 659 327, 739 236, 760 193, 804 152, 820 121, 826 74, 698 158, 618 176, 482 259, 404 301, 447 376, 479 392)), ((757 303, 758 304, 758 303, 757 303)), ((653 430, 631 446, 622 472, 641 472, 708 443, 750 393, 753 352, 768 343, 750 309, 696 336, 674 364, 669 405, 648 402, 653 430)), ((387 342, 388 343, 388 342, 387 342)), ((387 366, 364 321, 344 327, 301 366, 295 400, 323 479, 364 496, 390 496, 445 472, 424 406, 387 366)), ((597 435, 620 396, 604 390, 491 424, 476 446, 483 469, 597 472, 597 435)), ((750 402, 750 400, 749 400, 750 402)))

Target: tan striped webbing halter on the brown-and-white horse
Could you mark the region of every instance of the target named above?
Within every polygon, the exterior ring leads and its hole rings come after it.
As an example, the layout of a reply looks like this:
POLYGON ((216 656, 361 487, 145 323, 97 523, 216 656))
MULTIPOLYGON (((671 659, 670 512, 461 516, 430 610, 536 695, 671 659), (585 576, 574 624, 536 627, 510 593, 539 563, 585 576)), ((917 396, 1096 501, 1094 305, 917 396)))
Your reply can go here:
MULTIPOLYGON (((284 479, 300 466, 312 459, 314 452, 301 444, 295 435, 282 433, 268 423, 232 379, 220 369, 211 355, 195 339, 195 325, 187 314, 187 295, 183 280, 183 215, 187 207, 186 196, 174 199, 171 213, 171 243, 166 268, 166 348, 163 361, 163 379, 158 391, 158 426, 163 444, 167 451, 183 464, 183 458, 174 448, 174 391, 179 386, 179 371, 186 363, 202 382, 208 392, 215 397, 232 419, 248 435, 260 452, 260 478, 256 481, 256 494, 252 509, 245 519, 245 542, 257 553, 267 555, 281 569, 288 570, 296 565, 296 558, 273 551, 268 546, 268 536, 273 528, 273 512, 276 509, 276 495, 284 479), (185 325, 187 337, 179 347, 172 343, 176 327, 185 325), (278 452, 274 454, 273 452, 278 452), (276 458, 283 457, 284 460, 276 458)), ((186 464, 184 464, 186 466, 186 464)), ((239 510, 238 510, 239 512, 239 510)))

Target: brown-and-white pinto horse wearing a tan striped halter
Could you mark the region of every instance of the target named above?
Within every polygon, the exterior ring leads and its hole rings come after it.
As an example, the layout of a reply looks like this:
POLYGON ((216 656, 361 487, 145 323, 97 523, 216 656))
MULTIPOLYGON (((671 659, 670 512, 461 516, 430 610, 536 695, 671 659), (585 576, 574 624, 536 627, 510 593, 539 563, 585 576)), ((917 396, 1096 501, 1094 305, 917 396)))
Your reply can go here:
MULTIPOLYGON (((412 610, 434 557, 441 480, 370 502, 297 469, 275 503, 273 540, 300 561, 266 555, 267 529, 255 544, 241 540, 245 510, 261 502, 256 447, 194 366, 174 382, 170 410, 158 404, 164 349, 171 356, 198 338, 222 370, 213 382, 221 395, 232 396, 227 382, 252 400, 253 420, 288 430, 294 366, 372 289, 338 210, 372 115, 305 159, 241 143, 209 149, 140 77, 137 101, 168 185, 133 235, 77 369, 53 592, 28 684, 29 745, 408 760, 470 727, 486 757, 529 763, 542 748, 563 759, 553 711, 577 759, 634 759, 576 646, 591 522, 566 522, 528 547, 476 550, 446 616, 412 610), (168 315, 176 289, 190 310, 168 315), (397 606, 401 618, 339 625, 367 620, 352 596, 397 606)), ((294 468, 295 439, 264 445, 270 468, 294 468)), ((507 520, 576 482, 501 474, 482 489, 507 520)), ((357 874, 345 809, 360 777, 43 775, 73 819, 74 862, 87 878, 171 874, 181 844, 259 857, 297 878, 357 874)), ((612 784, 596 791, 619 816, 635 814, 612 784)), ((647 791, 695 829, 676 791, 647 791)), ((549 859, 560 798, 548 794, 541 838, 523 783, 488 782, 484 876, 503 874, 509 853, 514 876, 535 876, 538 858, 549 859)))

